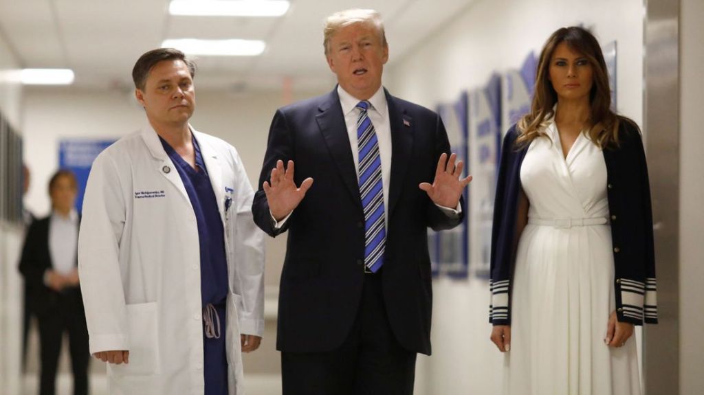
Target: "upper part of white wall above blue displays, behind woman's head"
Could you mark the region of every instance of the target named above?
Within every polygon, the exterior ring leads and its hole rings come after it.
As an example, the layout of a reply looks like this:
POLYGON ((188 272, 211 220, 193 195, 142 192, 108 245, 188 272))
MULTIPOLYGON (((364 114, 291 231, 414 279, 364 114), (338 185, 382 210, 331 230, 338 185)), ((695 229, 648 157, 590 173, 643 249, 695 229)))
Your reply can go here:
MULTIPOLYGON (((643 118, 641 0, 475 0, 439 32, 386 70, 391 93, 434 108, 460 91, 483 86, 492 72, 536 57, 559 27, 584 25, 601 44, 617 41, 619 111, 643 118)), ((389 43, 394 51, 394 43, 389 43)))

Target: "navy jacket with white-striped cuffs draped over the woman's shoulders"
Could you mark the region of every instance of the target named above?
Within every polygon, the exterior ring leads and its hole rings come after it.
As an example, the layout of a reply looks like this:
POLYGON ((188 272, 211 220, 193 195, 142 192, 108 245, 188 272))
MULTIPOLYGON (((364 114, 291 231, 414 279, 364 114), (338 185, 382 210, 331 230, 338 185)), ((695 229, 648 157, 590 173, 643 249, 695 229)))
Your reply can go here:
MULTIPOLYGON (((515 229, 520 170, 529 144, 517 147, 516 125, 503 140, 491 231, 491 306, 489 321, 510 325, 510 280, 515 263, 515 229), (508 300, 498 302, 498 300, 508 300)), ((635 125, 620 122, 618 146, 602 152, 607 172, 607 195, 615 264, 613 279, 620 322, 658 323, 655 289, 653 214, 650 183, 641 134, 635 125)))

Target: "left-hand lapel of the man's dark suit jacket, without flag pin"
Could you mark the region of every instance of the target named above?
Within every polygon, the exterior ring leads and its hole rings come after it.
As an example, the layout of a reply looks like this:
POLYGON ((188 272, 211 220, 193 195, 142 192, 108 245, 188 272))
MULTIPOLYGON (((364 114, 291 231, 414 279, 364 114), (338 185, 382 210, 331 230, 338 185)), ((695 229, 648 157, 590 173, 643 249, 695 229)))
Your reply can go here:
POLYGON ((342 113, 340 99, 337 96, 337 89, 334 89, 329 94, 327 100, 318 107, 318 111, 319 113, 315 116, 315 120, 318 122, 320 133, 327 144, 330 155, 332 155, 332 160, 335 162, 337 170, 342 176, 342 180, 351 193, 353 200, 362 209, 352 148, 347 136, 345 117, 342 113))

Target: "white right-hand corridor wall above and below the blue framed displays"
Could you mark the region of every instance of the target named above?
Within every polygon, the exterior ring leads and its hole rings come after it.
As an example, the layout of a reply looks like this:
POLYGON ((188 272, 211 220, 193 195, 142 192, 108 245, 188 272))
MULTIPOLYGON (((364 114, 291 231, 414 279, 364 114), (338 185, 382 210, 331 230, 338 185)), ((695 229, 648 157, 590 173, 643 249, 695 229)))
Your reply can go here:
MULTIPOLYGON (((583 24, 601 44, 617 41, 619 110, 643 117, 641 0, 477 0, 386 70, 392 94, 435 108, 483 86, 492 72, 520 67, 558 27, 583 24)), ((389 43, 394 51, 394 43, 389 43)), ((472 262, 470 262, 470 266, 472 262)), ((489 287, 482 280, 434 284, 433 356, 419 358, 419 394, 494 394, 502 358, 489 341, 489 287)))

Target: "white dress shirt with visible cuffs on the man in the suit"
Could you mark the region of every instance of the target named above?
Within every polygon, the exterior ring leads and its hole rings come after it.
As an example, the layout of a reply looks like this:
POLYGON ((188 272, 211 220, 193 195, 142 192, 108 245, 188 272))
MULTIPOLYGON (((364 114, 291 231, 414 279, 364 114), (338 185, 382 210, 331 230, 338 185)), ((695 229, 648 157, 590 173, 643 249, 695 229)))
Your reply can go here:
MULTIPOLYGON (((357 174, 357 181, 359 183, 359 148, 357 143, 357 120, 359 119, 360 110, 357 108, 357 104, 360 102, 358 98, 355 98, 350 93, 347 93, 341 86, 337 86, 337 96, 340 98, 340 105, 342 106, 342 114, 345 117, 345 126, 347 127, 347 136, 350 141, 350 148, 352 150, 352 157, 354 159, 354 167, 357 174)), ((389 228, 389 186, 391 180, 391 121, 389 118, 389 105, 386 103, 386 94, 384 93, 384 86, 379 86, 374 95, 368 100, 371 104, 370 108, 367 110, 367 115, 374 125, 374 130, 377 134, 377 142, 379 144, 379 157, 382 160, 382 188, 384 190, 384 224, 386 228, 389 228)), ((313 180, 315 181, 315 180, 313 180)), ((450 207, 443 207, 436 205, 444 212, 447 216, 452 218, 457 218, 462 212, 462 207, 457 204, 455 209, 450 207)), ((293 213, 293 212, 291 212, 293 213)), ((277 229, 282 228, 286 221, 291 216, 289 213, 281 221, 276 221, 272 216, 274 221, 274 227, 277 229)))

